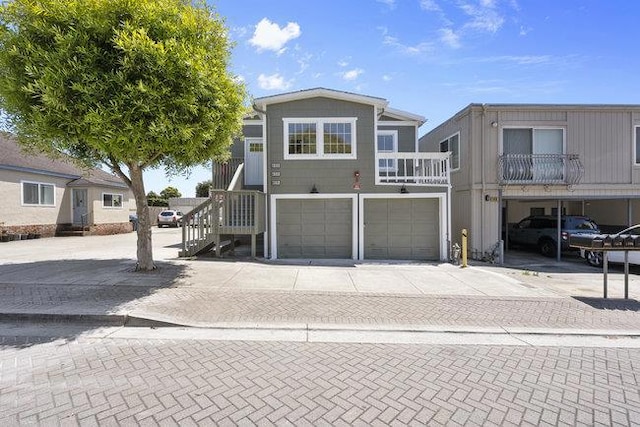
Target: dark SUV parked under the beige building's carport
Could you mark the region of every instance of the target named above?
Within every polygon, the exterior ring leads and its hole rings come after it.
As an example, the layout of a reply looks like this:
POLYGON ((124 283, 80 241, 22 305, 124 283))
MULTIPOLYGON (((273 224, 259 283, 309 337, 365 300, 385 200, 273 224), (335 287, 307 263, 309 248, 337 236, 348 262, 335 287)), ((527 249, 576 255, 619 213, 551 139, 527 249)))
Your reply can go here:
MULTIPOLYGON (((569 235, 600 233, 595 222, 586 216, 563 215, 560 224, 561 250, 569 248, 569 235)), ((544 256, 556 255, 558 218, 553 215, 528 216, 509 230, 509 244, 536 247, 544 256)))

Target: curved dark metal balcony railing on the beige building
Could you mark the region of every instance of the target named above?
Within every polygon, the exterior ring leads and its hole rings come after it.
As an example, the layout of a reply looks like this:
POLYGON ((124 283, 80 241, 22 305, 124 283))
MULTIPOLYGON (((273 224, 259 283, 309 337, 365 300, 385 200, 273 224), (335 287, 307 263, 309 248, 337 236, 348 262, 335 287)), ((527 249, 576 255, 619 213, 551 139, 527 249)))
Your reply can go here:
POLYGON ((498 158, 501 185, 576 185, 584 176, 577 154, 503 154, 498 158))

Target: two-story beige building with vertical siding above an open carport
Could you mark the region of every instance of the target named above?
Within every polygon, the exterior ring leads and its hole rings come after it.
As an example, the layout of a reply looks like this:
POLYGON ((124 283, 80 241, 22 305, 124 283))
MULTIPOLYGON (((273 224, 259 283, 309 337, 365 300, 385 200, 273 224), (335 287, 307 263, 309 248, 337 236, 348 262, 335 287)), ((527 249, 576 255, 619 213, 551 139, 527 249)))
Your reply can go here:
POLYGON ((450 151, 452 235, 482 254, 530 214, 640 222, 640 105, 471 104, 420 138, 450 151))

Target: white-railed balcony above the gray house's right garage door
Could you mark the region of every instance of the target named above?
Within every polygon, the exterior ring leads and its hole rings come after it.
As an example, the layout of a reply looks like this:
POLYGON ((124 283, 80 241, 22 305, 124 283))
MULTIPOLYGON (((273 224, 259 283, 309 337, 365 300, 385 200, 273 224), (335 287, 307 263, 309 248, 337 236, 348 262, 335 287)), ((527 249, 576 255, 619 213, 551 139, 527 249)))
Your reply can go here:
POLYGON ((449 185, 449 153, 378 153, 376 184, 449 185))

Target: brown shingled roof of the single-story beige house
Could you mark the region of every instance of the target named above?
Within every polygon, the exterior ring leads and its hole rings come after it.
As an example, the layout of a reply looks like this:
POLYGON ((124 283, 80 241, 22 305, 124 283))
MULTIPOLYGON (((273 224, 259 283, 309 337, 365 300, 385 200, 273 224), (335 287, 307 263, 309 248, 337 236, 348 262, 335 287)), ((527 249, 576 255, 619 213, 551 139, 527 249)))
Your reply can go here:
POLYGON ((51 158, 44 154, 24 151, 13 137, 7 134, 0 134, 0 153, 0 169, 67 178, 71 180, 67 184, 70 187, 127 187, 116 175, 102 169, 83 169, 64 155, 51 158))

